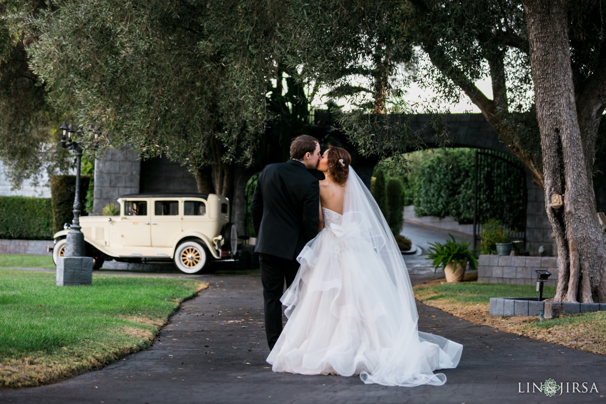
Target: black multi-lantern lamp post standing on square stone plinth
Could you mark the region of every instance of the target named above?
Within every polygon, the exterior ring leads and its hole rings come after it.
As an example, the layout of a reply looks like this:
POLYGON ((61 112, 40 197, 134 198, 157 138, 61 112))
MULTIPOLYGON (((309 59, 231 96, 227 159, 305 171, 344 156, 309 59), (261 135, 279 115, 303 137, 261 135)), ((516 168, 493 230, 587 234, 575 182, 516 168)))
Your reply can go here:
MULTIPOLYGON (((74 218, 72 220, 72 225, 70 226, 70 232, 67 233, 67 239, 65 240, 65 251, 64 256, 66 257, 85 257, 84 252, 84 233, 80 231, 80 212, 81 212, 81 203, 80 203, 80 166, 82 162, 82 149, 78 142, 75 141, 74 127, 70 123, 70 126, 67 127, 65 121, 63 121, 63 125, 59 127, 61 131, 61 147, 66 148, 67 150, 75 150, 76 151, 76 197, 74 200, 74 218), (67 140, 67 142, 66 142, 67 140)), ((77 133, 82 133, 82 130, 78 130, 77 133)))

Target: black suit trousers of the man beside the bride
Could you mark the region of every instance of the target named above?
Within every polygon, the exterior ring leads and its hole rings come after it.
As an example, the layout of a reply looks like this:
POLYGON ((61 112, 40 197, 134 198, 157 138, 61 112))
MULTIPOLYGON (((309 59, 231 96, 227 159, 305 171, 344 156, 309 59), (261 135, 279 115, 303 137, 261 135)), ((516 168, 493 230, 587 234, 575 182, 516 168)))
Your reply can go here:
POLYGON ((280 297, 286 287, 295 280, 299 263, 295 259, 285 259, 271 254, 259 253, 261 283, 265 308, 265 335, 270 349, 282 333, 282 303, 280 297))

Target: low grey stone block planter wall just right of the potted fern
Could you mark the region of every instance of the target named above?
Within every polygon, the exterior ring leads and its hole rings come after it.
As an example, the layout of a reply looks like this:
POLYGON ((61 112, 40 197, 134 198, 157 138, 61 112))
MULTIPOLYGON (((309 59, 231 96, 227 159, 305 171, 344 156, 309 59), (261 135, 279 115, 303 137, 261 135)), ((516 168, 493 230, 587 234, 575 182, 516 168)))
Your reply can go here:
POLYGON ((478 282, 536 285, 536 270, 551 273, 545 285, 557 285, 558 257, 481 255, 478 259, 478 282))

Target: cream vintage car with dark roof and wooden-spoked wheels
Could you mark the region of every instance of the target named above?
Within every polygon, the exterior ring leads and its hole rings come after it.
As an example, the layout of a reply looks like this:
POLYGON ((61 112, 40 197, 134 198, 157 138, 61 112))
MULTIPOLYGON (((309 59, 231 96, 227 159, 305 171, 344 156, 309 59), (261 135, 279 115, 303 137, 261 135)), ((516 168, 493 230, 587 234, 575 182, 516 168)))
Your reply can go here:
MULTIPOLYGON (((237 253, 236 226, 226 197, 215 194, 131 194, 118 198, 119 216, 81 216, 86 255, 95 269, 105 260, 174 260, 187 274, 204 271, 210 260, 237 253)), ((55 264, 65 249, 65 230, 55 234, 55 264)))

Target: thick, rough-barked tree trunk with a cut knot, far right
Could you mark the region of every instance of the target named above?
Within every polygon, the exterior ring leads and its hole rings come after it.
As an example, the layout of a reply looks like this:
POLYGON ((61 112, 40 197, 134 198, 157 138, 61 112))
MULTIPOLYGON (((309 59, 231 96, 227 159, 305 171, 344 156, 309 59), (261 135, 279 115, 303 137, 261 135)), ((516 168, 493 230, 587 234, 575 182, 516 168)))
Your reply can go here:
POLYGON ((587 149, 579 128, 565 0, 522 0, 541 132, 545 208, 558 245, 556 301, 605 302, 605 248, 596 214, 587 149), (551 208, 563 196, 564 207, 551 208))

